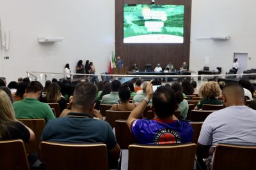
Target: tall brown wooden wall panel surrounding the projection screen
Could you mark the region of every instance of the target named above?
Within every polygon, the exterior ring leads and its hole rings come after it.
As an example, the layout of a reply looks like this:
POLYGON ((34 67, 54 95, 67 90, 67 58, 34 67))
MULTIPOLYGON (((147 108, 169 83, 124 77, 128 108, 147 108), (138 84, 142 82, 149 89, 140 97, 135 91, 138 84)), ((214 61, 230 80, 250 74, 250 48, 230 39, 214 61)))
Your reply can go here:
POLYGON ((124 60, 124 66, 132 69, 137 62, 141 70, 145 64, 157 63, 165 67, 173 62, 175 69, 179 69, 182 62, 189 64, 191 0, 155 0, 155 4, 184 4, 184 43, 183 44, 124 44, 124 4, 151 4, 151 0, 116 0, 115 1, 115 51, 116 56, 124 60))

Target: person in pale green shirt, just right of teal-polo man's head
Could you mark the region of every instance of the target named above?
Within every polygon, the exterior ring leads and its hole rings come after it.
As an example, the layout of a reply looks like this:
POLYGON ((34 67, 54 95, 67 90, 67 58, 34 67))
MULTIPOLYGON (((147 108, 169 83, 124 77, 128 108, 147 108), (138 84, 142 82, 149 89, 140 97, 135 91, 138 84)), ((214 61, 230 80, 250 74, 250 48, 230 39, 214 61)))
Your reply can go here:
MULTIPOLYGON (((121 86, 121 82, 119 80, 113 80, 111 82, 111 92, 110 94, 106 94, 102 97, 100 104, 116 104, 118 103, 118 90, 121 86)), ((103 92, 102 92, 103 93, 103 92)))

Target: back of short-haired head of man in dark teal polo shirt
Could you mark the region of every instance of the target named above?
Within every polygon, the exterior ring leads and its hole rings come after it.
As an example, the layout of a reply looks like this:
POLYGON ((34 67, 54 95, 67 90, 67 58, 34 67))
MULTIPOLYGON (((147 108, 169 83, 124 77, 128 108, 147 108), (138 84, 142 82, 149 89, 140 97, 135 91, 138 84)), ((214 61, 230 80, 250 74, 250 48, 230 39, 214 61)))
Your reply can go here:
POLYGON ((96 94, 97 87, 92 83, 78 83, 74 90, 72 107, 80 106, 82 108, 89 108, 95 103, 96 94))

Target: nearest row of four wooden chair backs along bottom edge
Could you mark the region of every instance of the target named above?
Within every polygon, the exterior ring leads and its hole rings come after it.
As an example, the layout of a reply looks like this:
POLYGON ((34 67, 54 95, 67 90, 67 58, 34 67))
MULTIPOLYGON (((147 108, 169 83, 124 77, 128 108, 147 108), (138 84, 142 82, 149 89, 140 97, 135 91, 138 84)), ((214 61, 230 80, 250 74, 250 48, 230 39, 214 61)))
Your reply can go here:
MULTIPOLYGON (((62 144, 42 142, 41 158, 45 169, 108 169, 108 151, 105 144, 62 144), (100 163, 99 163, 100 162, 100 163)), ((137 169, 193 169, 195 143, 149 146, 129 146, 128 168, 137 169)), ((0 141, 0 169, 29 170, 22 140, 0 141)), ((216 146, 213 170, 255 169, 256 146, 219 144, 216 146)))

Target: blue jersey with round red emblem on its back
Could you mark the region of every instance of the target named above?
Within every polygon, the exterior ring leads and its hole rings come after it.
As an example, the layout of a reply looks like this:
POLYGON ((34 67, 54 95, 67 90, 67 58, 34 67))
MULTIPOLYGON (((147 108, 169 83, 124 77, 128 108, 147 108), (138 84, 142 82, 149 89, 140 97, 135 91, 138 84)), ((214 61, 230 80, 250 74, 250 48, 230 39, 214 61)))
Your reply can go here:
POLYGON ((193 138, 193 128, 186 120, 138 119, 132 122, 131 130, 140 143, 147 145, 188 143, 193 138))

